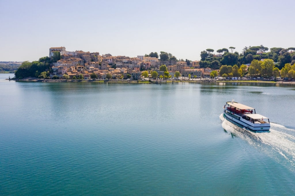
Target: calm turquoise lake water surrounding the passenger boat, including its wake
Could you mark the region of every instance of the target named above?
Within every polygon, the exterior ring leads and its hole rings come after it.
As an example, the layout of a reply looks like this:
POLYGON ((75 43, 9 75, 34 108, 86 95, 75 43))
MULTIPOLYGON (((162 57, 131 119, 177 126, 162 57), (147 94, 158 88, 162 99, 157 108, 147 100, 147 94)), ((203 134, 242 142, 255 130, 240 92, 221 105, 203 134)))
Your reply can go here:
POLYGON ((295 194, 295 86, 4 78, 1 195, 295 194), (232 99, 270 133, 224 120, 232 99))

